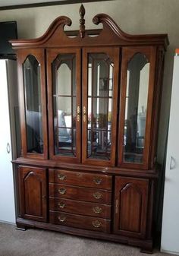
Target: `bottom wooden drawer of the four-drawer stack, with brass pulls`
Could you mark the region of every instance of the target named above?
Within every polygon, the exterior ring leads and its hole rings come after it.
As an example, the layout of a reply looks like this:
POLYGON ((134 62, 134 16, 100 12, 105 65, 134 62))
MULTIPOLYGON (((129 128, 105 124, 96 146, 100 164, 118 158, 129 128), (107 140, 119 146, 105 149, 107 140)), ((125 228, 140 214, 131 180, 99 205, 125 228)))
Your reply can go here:
POLYGON ((70 213, 58 213, 52 210, 50 210, 50 223, 99 232, 110 232, 111 226, 111 220, 70 213))

